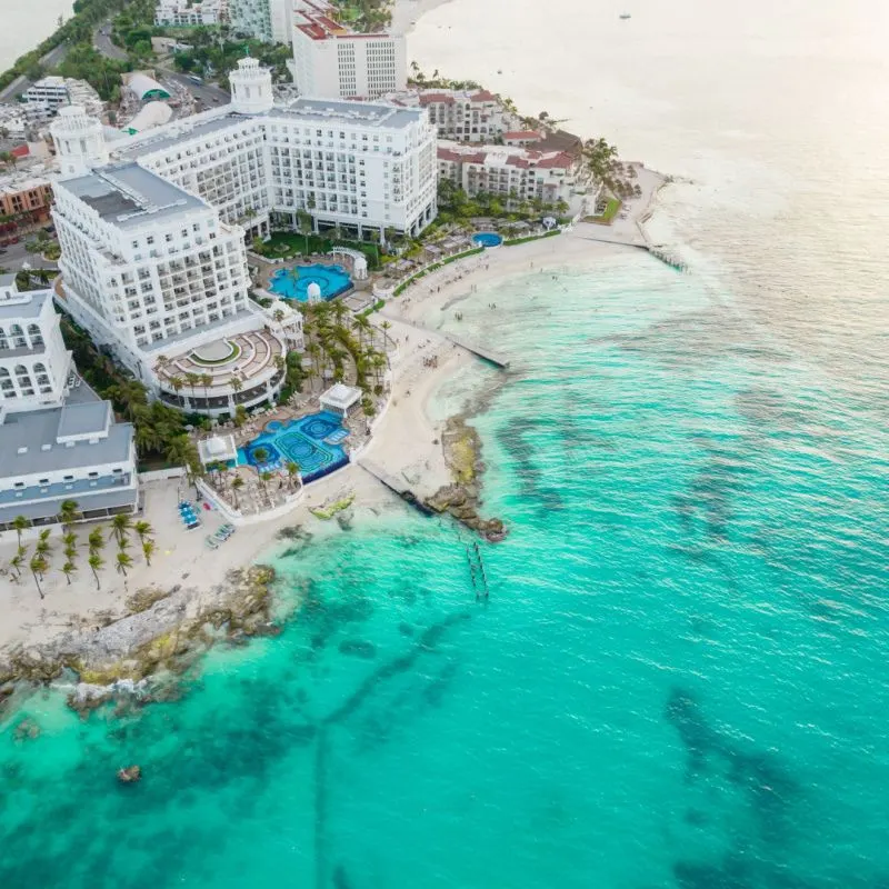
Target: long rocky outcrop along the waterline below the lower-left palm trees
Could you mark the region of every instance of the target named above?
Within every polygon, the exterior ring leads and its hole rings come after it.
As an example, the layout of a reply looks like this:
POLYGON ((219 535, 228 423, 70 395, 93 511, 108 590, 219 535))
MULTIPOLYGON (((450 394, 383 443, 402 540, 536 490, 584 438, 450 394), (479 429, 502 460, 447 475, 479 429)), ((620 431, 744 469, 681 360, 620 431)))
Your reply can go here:
POLYGON ((273 580, 272 568, 253 566, 230 571, 209 592, 140 590, 119 620, 9 655, 0 663, 0 688, 61 680, 72 688, 69 706, 81 715, 109 700, 169 700, 176 695, 171 685, 210 646, 279 631, 271 612, 273 580))

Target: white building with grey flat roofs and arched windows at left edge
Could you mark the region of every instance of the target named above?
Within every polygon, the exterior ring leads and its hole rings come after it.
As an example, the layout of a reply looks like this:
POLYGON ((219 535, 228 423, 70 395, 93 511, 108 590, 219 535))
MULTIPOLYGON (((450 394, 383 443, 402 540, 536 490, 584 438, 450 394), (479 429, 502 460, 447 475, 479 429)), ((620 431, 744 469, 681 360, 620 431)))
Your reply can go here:
POLYGON ((133 512, 138 496, 132 427, 77 377, 52 292, 0 277, 0 531, 56 522, 66 500, 82 518, 133 512))

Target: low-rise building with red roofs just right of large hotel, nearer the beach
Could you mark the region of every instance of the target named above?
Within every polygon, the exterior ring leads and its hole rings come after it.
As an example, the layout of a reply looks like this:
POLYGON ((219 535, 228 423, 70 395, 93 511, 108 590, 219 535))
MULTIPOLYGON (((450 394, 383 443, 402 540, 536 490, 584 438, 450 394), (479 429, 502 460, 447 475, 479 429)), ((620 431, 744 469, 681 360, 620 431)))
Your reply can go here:
POLYGON ((503 200, 569 202, 580 186, 581 164, 562 151, 535 151, 509 146, 466 146, 440 140, 438 172, 470 197, 479 192, 503 200))

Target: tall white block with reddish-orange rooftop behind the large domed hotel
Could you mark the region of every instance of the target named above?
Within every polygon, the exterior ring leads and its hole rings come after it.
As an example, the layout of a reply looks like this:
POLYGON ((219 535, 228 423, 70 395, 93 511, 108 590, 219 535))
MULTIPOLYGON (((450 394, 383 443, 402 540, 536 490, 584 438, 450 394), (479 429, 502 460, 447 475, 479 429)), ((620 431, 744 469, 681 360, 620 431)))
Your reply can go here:
POLYGON ((298 0, 292 44, 302 96, 377 99, 407 86, 404 37, 352 31, 326 4, 298 0))

